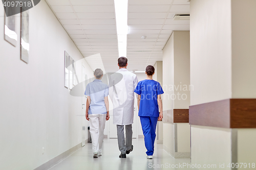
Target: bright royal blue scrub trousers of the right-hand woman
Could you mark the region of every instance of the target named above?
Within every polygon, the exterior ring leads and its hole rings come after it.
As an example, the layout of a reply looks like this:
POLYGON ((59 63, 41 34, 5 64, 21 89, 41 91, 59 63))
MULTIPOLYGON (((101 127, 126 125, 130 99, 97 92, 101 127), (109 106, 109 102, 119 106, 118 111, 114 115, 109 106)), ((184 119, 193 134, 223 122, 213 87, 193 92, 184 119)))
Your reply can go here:
POLYGON ((158 117, 140 116, 147 155, 153 155, 158 117))

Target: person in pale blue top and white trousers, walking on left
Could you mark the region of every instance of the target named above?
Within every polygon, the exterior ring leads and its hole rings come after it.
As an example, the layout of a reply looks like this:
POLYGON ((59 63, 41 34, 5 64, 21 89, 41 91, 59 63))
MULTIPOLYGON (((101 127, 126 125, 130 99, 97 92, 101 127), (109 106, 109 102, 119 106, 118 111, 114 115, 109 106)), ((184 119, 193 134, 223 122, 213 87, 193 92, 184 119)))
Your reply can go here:
POLYGON ((89 120, 92 136, 93 157, 101 156, 104 137, 105 120, 109 120, 109 88, 102 83, 103 71, 94 71, 95 80, 86 86, 84 94, 88 95, 86 104, 86 119, 89 120))

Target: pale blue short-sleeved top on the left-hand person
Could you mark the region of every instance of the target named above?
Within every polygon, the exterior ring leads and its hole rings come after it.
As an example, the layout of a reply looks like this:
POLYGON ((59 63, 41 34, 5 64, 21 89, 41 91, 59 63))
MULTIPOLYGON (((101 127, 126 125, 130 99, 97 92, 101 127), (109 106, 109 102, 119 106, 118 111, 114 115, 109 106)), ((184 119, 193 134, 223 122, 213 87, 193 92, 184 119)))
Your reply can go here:
POLYGON ((86 86, 84 94, 91 98, 88 114, 106 114, 104 97, 109 95, 108 85, 102 83, 99 79, 95 79, 86 86))

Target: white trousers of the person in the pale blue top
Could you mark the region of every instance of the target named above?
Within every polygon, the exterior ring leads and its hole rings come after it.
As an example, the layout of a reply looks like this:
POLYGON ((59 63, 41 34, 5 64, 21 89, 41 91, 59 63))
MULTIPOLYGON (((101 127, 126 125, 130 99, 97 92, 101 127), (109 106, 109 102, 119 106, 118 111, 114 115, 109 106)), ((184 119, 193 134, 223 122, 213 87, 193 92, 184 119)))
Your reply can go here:
POLYGON ((104 138, 106 114, 89 114, 93 153, 101 153, 104 138))

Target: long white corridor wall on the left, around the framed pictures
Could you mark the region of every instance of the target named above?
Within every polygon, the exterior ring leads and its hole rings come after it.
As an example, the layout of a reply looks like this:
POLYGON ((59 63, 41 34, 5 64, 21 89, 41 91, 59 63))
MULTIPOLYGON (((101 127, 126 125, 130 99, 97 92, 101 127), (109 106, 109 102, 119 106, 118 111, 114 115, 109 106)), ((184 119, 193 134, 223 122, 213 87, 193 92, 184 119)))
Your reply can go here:
MULTIPOLYGON (((45 1, 29 12, 26 64, 20 60, 19 45, 4 40, 0 7, 0 169, 6 170, 34 169, 81 142, 81 97, 71 96, 64 87, 63 56, 67 51, 76 61, 83 57, 45 1)), ((83 63, 92 77, 90 66, 83 63)))

